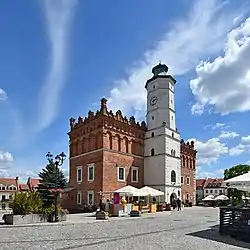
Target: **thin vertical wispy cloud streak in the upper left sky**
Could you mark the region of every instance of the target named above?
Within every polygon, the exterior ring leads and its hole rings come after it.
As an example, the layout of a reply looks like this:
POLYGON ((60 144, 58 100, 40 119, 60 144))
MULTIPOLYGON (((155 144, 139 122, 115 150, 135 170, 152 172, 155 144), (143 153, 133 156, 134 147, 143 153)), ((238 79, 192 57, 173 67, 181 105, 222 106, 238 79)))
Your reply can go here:
POLYGON ((77 0, 44 0, 51 44, 50 68, 38 103, 38 127, 48 127, 58 114, 61 92, 67 81, 68 34, 77 0))

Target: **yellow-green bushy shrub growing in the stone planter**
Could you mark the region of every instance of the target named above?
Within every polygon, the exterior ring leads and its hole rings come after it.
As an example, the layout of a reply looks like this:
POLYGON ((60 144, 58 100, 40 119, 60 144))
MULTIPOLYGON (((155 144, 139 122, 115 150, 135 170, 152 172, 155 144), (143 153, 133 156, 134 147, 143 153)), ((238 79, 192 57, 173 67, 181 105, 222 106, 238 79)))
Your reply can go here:
POLYGON ((49 214, 53 206, 45 207, 38 192, 16 193, 10 202, 13 214, 49 214))

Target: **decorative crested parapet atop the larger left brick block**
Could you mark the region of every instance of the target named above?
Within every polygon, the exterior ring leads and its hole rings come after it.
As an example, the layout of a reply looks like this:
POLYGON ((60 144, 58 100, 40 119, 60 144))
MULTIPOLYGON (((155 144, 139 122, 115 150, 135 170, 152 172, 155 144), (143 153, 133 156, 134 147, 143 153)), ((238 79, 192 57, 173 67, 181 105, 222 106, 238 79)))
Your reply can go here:
POLYGON ((85 125, 100 116, 107 116, 116 121, 119 121, 119 122, 128 124, 132 127, 146 131, 147 127, 146 127, 145 121, 142 121, 141 123, 139 123, 135 120, 134 116, 127 118, 126 116, 123 116, 121 110, 117 110, 116 113, 114 114, 112 110, 108 111, 107 102, 108 102, 107 99, 102 98, 100 109, 97 110, 96 113, 89 110, 88 116, 85 117, 84 119, 81 116, 79 116, 77 122, 73 117, 71 117, 70 118, 70 130, 72 131, 74 128, 77 128, 81 125, 85 125))

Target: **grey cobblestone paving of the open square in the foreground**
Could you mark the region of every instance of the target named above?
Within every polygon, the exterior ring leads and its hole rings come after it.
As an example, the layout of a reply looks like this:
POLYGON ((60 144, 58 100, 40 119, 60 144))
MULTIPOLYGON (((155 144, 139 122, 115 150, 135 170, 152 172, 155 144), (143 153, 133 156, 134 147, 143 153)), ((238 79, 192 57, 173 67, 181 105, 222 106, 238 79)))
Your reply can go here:
POLYGON ((0 227, 0 249, 250 249, 218 233, 218 209, 188 208, 142 218, 111 218, 96 222, 86 215, 70 215, 63 224, 0 227))

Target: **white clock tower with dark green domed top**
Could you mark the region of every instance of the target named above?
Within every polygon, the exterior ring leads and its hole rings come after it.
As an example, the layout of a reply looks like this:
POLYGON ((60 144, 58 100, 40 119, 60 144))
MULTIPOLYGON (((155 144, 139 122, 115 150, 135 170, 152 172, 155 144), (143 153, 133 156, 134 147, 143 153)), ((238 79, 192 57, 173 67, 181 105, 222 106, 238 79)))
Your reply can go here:
POLYGON ((174 85, 168 67, 159 64, 146 83, 147 132, 144 145, 144 184, 165 193, 171 203, 181 197, 180 134, 175 124, 174 85))

